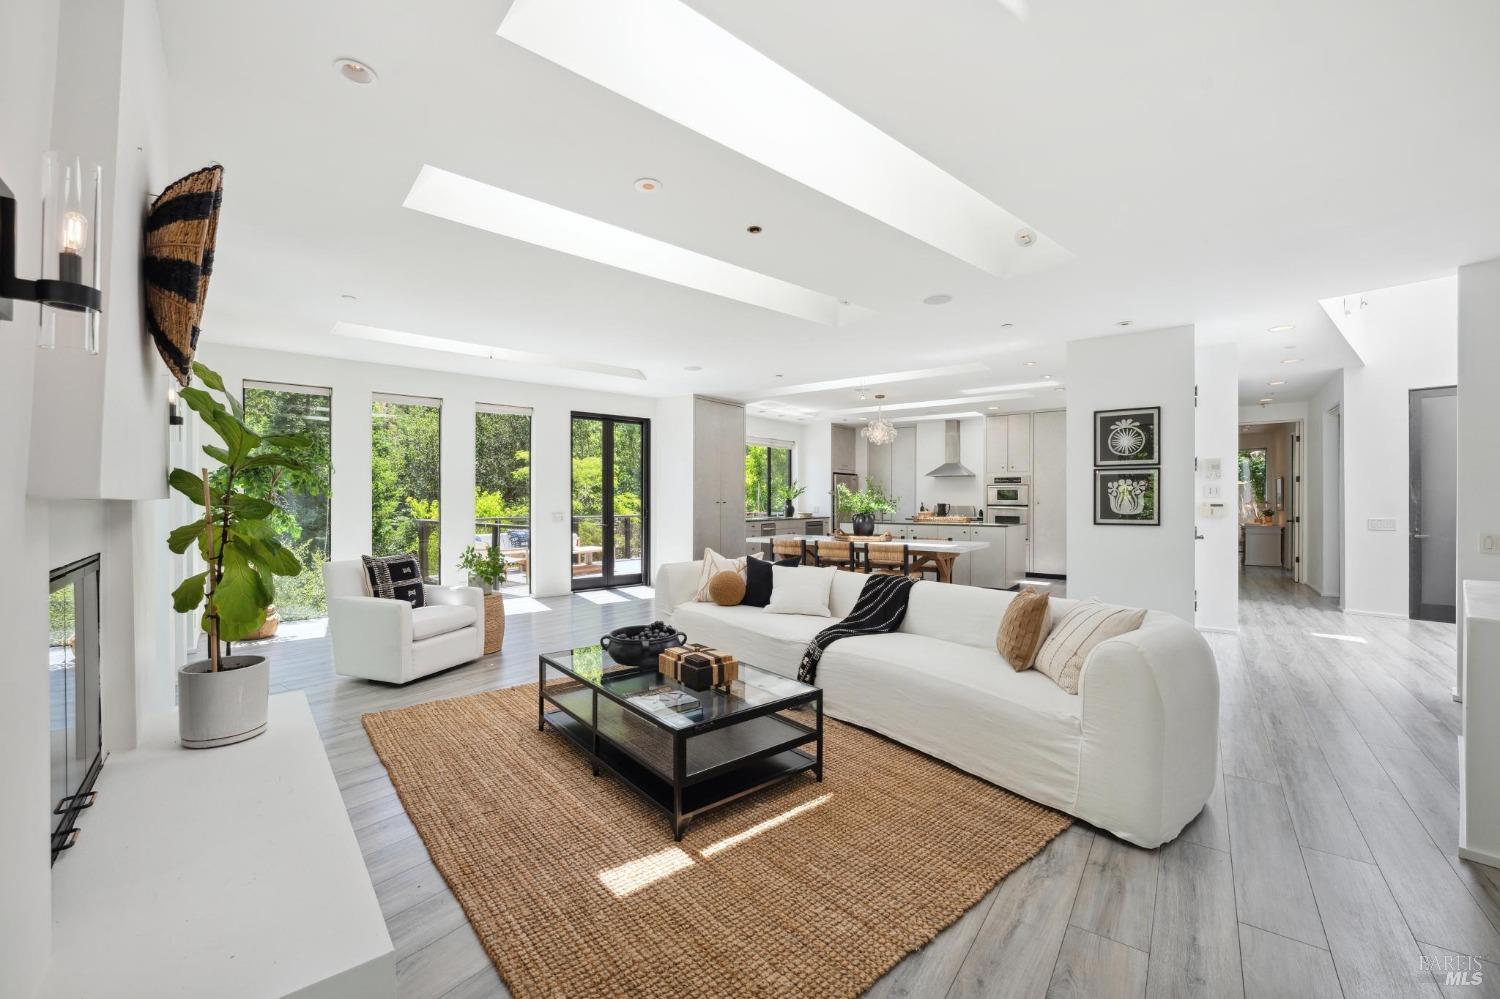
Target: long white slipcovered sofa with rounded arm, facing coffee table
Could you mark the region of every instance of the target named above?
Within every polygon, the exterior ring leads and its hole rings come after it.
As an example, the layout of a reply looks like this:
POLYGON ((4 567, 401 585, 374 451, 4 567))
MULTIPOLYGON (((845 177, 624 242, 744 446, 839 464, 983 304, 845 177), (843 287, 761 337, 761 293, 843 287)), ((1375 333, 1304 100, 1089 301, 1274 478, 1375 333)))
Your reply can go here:
MULTIPOLYGON (((663 566, 657 612, 688 640, 796 675, 807 642, 849 614, 866 578, 834 576, 832 618, 694 603, 702 562, 663 566)), ((1203 636, 1150 610, 1101 642, 1077 694, 1017 674, 994 636, 1016 594, 918 582, 900 632, 834 642, 824 711, 1146 848, 1182 831, 1218 772, 1218 669, 1203 636)), ((1077 602, 1052 602, 1053 620, 1077 602)))

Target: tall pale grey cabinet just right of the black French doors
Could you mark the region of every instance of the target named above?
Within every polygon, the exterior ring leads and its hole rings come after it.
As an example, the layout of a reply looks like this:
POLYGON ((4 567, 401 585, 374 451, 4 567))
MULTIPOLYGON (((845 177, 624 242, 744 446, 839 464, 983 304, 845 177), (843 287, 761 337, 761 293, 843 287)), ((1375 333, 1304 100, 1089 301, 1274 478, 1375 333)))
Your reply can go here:
POLYGON ((746 554, 746 410, 693 400, 693 554, 746 554))

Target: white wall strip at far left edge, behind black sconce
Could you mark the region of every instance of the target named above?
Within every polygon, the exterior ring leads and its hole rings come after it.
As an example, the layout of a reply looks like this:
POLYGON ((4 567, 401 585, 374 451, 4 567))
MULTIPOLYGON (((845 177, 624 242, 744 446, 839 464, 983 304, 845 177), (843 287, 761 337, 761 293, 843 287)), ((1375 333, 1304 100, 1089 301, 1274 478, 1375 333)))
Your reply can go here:
MULTIPOLYGON (((40 240, 42 153, 51 132, 57 0, 0 0, 0 177, 16 192, 16 244, 40 240)), ((22 252, 26 267, 34 250, 22 252)), ((28 272, 22 272, 28 273, 28 272)), ((18 537, 0 600, 0 996, 36 992, 51 950, 46 710, 46 507, 28 502, 36 308, 0 322, 0 524, 18 537), (40 524, 40 526, 38 526, 40 524)))

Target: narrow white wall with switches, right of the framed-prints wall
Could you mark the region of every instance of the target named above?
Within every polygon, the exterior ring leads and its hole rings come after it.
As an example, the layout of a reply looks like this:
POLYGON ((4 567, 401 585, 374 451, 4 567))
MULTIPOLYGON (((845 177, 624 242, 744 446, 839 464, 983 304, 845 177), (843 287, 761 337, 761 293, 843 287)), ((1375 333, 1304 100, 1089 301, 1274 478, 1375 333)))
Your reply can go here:
MULTIPOLYGON (((1194 580, 1200 628, 1239 630, 1239 520, 1234 496, 1236 435, 1239 434, 1239 348, 1234 344, 1198 346, 1194 356, 1198 405, 1194 410, 1194 447, 1198 459, 1196 501, 1221 502, 1215 516, 1194 518, 1202 540, 1194 543, 1194 580), (1208 478, 1208 460, 1220 464, 1220 477, 1208 478), (1216 488, 1210 498, 1208 489, 1216 488)), ((1090 483, 1092 484, 1092 483, 1090 483)), ((1124 530, 1124 528, 1122 528, 1124 530)))

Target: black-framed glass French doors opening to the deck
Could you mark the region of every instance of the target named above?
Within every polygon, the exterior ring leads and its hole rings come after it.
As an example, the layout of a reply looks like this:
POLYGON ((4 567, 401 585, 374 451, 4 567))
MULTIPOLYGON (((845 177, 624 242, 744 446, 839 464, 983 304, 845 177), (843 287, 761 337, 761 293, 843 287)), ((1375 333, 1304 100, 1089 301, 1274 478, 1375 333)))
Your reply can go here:
POLYGON ((573 414, 573 590, 646 580, 651 422, 573 414))

